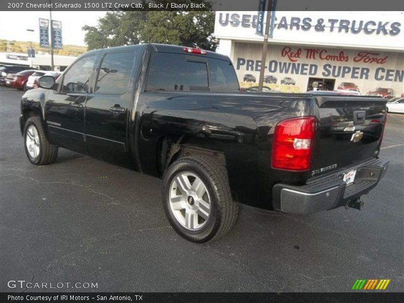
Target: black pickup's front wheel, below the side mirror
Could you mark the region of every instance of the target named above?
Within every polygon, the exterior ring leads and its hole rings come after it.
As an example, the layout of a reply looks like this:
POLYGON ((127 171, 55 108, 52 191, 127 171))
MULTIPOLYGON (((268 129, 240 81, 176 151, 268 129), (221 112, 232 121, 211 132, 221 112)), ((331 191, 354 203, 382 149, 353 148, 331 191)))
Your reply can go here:
POLYGON ((28 160, 35 165, 54 163, 58 146, 49 143, 39 117, 31 117, 24 126, 24 147, 28 160))

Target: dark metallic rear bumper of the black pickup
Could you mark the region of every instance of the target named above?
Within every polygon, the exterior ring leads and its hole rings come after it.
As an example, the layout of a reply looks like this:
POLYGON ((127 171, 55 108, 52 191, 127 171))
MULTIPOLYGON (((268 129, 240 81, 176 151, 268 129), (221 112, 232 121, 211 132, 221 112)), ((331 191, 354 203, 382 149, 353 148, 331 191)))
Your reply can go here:
POLYGON ((386 159, 372 159, 310 179, 304 186, 276 184, 272 191, 274 208, 291 214, 311 214, 345 206, 374 188, 386 173, 388 164, 386 159), (346 186, 342 175, 351 170, 357 170, 355 181, 346 186))

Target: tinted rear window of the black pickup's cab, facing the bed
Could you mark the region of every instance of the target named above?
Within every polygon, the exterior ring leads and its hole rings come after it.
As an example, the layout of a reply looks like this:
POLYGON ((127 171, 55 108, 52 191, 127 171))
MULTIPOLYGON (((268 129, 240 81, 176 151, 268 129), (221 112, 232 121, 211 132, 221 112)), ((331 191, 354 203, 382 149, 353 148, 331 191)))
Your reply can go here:
POLYGON ((155 53, 146 91, 238 91, 230 62, 207 57, 155 53))

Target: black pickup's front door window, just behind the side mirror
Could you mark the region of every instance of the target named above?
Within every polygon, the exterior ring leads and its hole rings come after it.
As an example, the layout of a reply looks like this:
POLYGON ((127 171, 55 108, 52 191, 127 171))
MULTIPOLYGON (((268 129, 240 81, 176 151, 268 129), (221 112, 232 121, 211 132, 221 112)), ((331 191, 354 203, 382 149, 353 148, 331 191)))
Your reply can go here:
POLYGON ((93 55, 81 58, 65 73, 62 91, 88 92, 88 85, 94 67, 93 55))

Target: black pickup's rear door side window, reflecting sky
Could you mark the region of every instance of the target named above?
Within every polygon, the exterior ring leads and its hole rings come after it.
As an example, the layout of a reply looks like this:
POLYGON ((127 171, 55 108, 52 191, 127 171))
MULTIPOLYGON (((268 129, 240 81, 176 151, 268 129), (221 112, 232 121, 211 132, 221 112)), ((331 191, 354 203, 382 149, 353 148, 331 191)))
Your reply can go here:
POLYGON ((105 55, 98 69, 94 92, 123 94, 128 87, 134 61, 134 52, 105 55))

